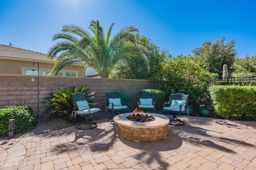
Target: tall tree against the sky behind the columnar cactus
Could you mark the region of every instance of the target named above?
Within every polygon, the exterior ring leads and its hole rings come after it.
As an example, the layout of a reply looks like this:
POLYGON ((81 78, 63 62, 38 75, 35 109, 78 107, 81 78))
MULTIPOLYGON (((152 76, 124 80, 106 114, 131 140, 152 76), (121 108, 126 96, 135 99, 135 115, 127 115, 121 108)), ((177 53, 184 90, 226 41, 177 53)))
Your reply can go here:
POLYGON ((201 47, 197 47, 192 52, 195 57, 202 57, 206 64, 206 68, 210 72, 217 73, 222 76, 223 65, 228 65, 228 72, 232 73, 232 64, 237 55, 234 49, 235 41, 232 39, 229 43, 224 43, 225 37, 215 43, 205 41, 201 47))

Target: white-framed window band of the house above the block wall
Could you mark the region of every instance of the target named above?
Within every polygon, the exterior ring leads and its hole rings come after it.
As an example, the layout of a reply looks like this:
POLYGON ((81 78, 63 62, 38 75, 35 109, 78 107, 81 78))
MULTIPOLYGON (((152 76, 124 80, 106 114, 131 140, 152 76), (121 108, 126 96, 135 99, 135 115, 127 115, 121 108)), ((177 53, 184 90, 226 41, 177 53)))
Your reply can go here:
MULTIPOLYGON (((34 67, 20 67, 22 69, 22 75, 38 75, 37 68, 34 67), (35 71, 32 71, 35 70, 35 71)), ((39 68, 39 76, 50 76, 50 68, 39 68)), ((56 76, 78 77, 78 70, 61 70, 56 76)))

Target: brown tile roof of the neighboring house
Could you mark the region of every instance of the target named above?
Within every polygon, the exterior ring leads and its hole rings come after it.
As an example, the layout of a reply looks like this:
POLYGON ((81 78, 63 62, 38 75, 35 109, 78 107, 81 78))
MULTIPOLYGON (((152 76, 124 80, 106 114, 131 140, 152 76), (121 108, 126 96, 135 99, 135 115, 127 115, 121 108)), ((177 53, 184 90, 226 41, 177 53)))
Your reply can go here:
POLYGON ((0 44, 0 57, 46 60, 46 54, 0 44))

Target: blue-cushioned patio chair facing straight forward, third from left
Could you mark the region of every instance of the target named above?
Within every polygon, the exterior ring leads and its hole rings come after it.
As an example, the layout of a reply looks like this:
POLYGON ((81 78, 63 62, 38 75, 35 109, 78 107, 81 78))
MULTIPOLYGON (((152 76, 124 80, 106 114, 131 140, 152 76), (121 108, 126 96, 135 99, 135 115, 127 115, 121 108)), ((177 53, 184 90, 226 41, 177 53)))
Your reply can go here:
POLYGON ((156 102, 154 102, 154 93, 139 93, 138 110, 154 110, 156 111, 156 102))

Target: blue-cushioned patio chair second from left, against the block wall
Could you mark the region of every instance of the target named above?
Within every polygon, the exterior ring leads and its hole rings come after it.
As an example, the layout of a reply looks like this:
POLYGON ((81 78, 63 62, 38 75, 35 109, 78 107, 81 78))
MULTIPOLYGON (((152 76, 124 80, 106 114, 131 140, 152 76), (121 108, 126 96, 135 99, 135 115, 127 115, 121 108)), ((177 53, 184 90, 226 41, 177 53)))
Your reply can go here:
MULTIPOLYGON (((112 113, 118 112, 118 111, 125 111, 129 110, 128 106, 122 105, 122 96, 121 93, 118 92, 110 92, 106 93, 106 98, 107 98, 107 106, 106 106, 106 111, 111 110, 112 113)), ((108 120, 113 121, 114 116, 110 117, 108 120)))

